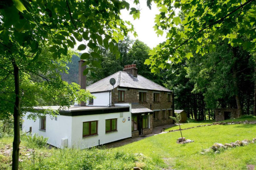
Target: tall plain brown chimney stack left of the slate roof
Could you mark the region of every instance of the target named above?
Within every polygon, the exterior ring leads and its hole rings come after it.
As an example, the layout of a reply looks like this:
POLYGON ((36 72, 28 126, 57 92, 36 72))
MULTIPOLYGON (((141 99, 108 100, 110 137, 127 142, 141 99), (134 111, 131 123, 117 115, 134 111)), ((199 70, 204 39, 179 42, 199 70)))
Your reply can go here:
MULTIPOLYGON (((86 65, 84 64, 84 60, 79 61, 78 66, 78 82, 81 86, 81 89, 86 89, 86 75, 84 75, 84 70, 86 69, 86 65)), ((79 106, 85 106, 86 102, 81 102, 78 105, 79 106)))

